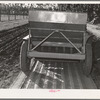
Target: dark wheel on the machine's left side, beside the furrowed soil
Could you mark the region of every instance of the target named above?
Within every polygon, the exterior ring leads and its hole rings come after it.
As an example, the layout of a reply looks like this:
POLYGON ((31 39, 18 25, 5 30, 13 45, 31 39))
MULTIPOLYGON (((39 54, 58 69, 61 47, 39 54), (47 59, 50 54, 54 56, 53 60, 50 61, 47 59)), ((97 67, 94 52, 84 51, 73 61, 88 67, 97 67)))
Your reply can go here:
POLYGON ((30 59, 27 57, 28 41, 24 41, 20 50, 20 67, 28 76, 30 73, 30 59))

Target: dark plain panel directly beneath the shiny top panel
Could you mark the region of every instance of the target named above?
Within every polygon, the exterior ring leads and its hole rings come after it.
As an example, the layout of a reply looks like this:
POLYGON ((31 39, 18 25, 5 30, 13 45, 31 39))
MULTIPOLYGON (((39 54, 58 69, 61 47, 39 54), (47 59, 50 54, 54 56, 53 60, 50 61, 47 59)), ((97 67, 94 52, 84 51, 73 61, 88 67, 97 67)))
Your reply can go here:
MULTIPOLYGON (((64 24, 64 23, 47 23, 47 22, 35 22, 29 21, 30 28, 42 28, 42 29, 63 29, 63 30, 76 30, 76 31, 85 31, 86 25, 84 24, 64 24)), ((41 30, 42 30, 41 29, 41 30)))

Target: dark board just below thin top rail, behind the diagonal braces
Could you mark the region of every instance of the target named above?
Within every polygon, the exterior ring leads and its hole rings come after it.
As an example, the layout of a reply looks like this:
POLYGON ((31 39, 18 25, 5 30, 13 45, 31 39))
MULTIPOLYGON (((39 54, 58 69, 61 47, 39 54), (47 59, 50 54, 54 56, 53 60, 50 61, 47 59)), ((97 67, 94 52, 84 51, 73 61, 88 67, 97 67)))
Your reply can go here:
MULTIPOLYGON (((31 35, 32 37, 34 36, 44 36, 46 37, 49 35, 52 31, 55 31, 55 29, 42 29, 42 28, 29 28, 31 30, 31 35), (42 31, 41 31, 42 30, 42 31)), ((81 31, 75 31, 75 30, 61 30, 59 29, 60 32, 63 32, 67 37, 69 38, 82 38, 83 32, 81 31)), ((58 32, 55 32, 53 37, 62 37, 61 34, 58 34, 58 32)))

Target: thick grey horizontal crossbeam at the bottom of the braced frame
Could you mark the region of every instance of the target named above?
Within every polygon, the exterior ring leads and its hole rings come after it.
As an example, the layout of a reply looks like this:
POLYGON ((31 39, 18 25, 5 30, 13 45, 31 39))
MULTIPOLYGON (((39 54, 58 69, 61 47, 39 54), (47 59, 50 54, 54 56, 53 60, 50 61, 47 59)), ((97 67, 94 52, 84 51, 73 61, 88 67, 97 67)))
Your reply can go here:
POLYGON ((76 60, 84 60, 85 55, 82 54, 62 54, 62 53, 45 53, 45 52, 28 52, 29 57, 36 58, 52 58, 52 59, 76 59, 76 60))

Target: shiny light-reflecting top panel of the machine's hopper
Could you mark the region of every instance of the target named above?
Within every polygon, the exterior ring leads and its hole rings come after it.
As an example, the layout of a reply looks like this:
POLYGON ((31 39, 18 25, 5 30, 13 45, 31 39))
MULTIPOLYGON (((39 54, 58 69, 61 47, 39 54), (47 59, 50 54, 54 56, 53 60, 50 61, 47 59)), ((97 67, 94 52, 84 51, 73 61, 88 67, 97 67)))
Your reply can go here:
POLYGON ((87 14, 54 11, 29 11, 29 21, 86 24, 87 14))

